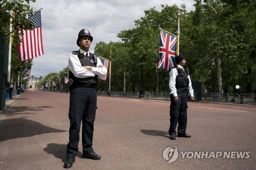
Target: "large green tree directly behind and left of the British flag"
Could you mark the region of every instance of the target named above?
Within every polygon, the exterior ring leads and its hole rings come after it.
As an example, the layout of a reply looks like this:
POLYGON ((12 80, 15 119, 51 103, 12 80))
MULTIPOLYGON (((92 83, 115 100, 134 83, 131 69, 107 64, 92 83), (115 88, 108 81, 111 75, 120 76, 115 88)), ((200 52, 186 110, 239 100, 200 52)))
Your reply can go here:
MULTIPOLYGON (((180 9, 177 6, 167 5, 162 5, 160 12, 151 8, 144 11, 144 17, 135 20, 135 29, 124 30, 118 34, 125 45, 132 49, 133 56, 137 60, 136 67, 141 68, 136 73, 140 75, 137 79, 138 89, 143 87, 147 91, 156 92, 168 90, 168 78, 166 77, 168 72, 157 68, 159 28, 174 33, 177 30, 176 14, 178 10, 180 9)), ((185 12, 184 9, 182 11, 185 12)))

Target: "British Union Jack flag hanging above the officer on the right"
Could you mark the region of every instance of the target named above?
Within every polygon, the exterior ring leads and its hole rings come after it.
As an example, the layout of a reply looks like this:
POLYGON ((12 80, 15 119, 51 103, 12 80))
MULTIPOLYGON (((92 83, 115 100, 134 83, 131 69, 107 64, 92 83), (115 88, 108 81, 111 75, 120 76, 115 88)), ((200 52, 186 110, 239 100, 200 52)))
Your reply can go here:
POLYGON ((174 67, 177 37, 160 30, 158 68, 171 70, 174 67))

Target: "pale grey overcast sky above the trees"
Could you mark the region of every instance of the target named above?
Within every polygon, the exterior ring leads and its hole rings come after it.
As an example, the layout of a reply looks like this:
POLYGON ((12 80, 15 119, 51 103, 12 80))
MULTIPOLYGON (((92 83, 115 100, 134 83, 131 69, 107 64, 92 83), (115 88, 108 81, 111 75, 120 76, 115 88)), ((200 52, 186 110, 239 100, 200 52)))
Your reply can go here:
MULTIPOLYGON (((30 76, 47 76, 68 66, 69 55, 78 50, 76 45, 80 30, 88 29, 93 36, 90 52, 94 53, 96 43, 117 42, 122 30, 135 28, 134 20, 144 16, 144 11, 161 5, 181 8, 186 5, 194 10, 193 0, 37 0, 31 4, 41 10, 42 41, 44 55, 33 60, 30 76)), ((102 56, 104 57, 104 56, 102 56)))

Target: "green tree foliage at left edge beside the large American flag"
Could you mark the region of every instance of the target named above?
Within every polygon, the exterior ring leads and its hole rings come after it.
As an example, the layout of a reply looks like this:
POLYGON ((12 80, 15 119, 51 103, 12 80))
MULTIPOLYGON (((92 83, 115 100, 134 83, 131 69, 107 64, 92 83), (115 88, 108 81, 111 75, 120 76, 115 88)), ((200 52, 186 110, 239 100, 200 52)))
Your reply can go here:
MULTIPOLYGON (((20 61, 17 50, 20 43, 20 30, 32 29, 32 24, 26 17, 28 13, 33 13, 33 9, 29 5, 30 2, 35 2, 35 0, 0 1, 0 34, 4 35, 7 44, 10 42, 10 35, 12 37, 11 81, 14 82, 14 85, 17 83, 18 75, 25 77, 26 75, 22 74, 22 71, 25 68, 31 68, 32 65, 32 60, 20 61)), ((23 77, 20 77, 20 83, 26 87, 27 80, 23 80, 23 77)))

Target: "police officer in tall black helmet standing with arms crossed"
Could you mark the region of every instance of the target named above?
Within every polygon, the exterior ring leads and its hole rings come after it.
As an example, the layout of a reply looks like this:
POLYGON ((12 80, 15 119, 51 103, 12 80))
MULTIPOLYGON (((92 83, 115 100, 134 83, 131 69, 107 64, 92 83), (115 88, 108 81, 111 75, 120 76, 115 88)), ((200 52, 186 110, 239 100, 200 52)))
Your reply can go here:
POLYGON ((94 120, 96 114, 98 77, 106 75, 106 68, 99 57, 89 52, 93 37, 83 29, 78 34, 77 45, 80 50, 73 51, 69 57, 69 143, 65 168, 72 167, 78 153, 80 125, 82 122, 82 158, 99 160, 100 155, 92 148, 94 120))

